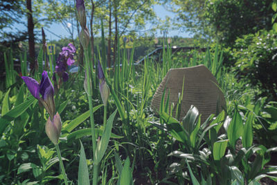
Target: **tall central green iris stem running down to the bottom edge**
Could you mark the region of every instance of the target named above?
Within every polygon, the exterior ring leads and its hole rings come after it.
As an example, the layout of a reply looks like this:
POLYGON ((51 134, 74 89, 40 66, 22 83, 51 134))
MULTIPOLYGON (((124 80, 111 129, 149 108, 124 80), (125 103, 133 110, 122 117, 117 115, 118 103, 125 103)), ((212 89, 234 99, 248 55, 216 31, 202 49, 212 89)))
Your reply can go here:
POLYGON ((91 139, 92 139, 92 150, 93 150, 93 185, 98 182, 98 164, 96 164, 96 135, 95 135, 95 124, 93 117, 93 105, 92 105, 92 87, 91 87, 91 76, 89 75, 89 53, 88 49, 84 49, 84 58, 86 63, 87 73, 87 98, 89 99, 89 114, 91 121, 91 139))

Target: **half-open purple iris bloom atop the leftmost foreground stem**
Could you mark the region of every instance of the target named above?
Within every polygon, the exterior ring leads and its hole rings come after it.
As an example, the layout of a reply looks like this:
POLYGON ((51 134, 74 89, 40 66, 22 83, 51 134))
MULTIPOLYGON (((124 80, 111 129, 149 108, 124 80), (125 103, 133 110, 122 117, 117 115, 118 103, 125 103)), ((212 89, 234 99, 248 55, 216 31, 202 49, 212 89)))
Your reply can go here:
POLYGON ((28 76, 21 77, 26 83, 30 94, 32 94, 42 105, 44 105, 46 111, 49 113, 51 120, 55 115, 55 101, 54 101, 54 87, 49 79, 47 72, 42 73, 42 80, 39 84, 35 79, 28 76))

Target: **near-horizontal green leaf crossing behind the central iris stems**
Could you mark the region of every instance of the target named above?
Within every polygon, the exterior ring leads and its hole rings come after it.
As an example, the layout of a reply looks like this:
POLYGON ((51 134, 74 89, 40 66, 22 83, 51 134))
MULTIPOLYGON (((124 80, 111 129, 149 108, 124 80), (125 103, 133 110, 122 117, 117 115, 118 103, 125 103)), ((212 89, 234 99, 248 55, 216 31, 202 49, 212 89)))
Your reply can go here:
MULTIPOLYGON (((102 136, 103 130, 102 129, 95 129, 95 134, 96 136, 102 136)), ((91 128, 84 128, 81 130, 76 130, 74 132, 71 132, 70 134, 68 134, 66 137, 68 140, 72 140, 72 139, 80 139, 83 136, 91 136, 91 128)), ((124 136, 118 136, 116 134, 111 133, 111 138, 114 139, 121 139, 124 136)))

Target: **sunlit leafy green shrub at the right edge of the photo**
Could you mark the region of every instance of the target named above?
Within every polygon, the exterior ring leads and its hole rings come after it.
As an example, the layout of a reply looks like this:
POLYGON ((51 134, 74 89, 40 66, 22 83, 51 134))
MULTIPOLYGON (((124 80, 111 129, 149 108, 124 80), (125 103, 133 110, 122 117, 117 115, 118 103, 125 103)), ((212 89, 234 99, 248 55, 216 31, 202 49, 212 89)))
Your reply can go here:
POLYGON ((277 100, 277 37, 272 30, 260 30, 235 41, 233 52, 240 77, 260 88, 262 96, 277 100))

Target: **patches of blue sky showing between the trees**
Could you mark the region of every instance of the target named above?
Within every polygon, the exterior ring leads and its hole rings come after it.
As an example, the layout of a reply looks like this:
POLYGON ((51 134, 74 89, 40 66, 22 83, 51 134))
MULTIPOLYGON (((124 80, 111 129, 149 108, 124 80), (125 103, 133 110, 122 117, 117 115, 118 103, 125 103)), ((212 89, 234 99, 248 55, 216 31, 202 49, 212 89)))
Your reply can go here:
MULTIPOLYGON (((175 13, 173 12, 169 12, 168 10, 166 10, 165 8, 163 8, 163 6, 161 5, 156 5, 154 6, 154 11, 157 13, 157 16, 162 19, 165 20, 166 17, 175 17, 175 13)), ((70 27, 70 23, 68 23, 68 26, 70 27)), ((146 26, 146 29, 149 29, 150 27, 152 27, 153 25, 148 24, 146 26)), ((24 25, 17 25, 17 28, 19 29, 26 29, 26 27, 24 25)), ((9 29, 7 29, 9 30, 9 29)), ((60 39, 60 37, 69 37, 69 33, 66 31, 66 28, 64 28, 64 26, 62 26, 62 24, 57 24, 54 23, 52 24, 49 28, 45 28, 44 29, 46 35, 47 35, 47 39, 60 39), (60 37, 57 37, 60 36, 60 37)), ((76 37, 77 35, 77 31, 74 30, 74 37, 76 37)), ((163 34, 161 33, 160 30, 157 30, 157 37, 161 37, 163 34)), ((168 37, 173 37, 175 35, 181 36, 181 37, 192 37, 192 35, 190 35, 189 33, 186 32, 180 32, 179 30, 172 30, 169 29, 167 36, 168 37)))

